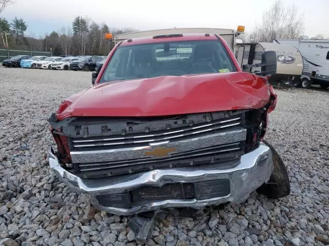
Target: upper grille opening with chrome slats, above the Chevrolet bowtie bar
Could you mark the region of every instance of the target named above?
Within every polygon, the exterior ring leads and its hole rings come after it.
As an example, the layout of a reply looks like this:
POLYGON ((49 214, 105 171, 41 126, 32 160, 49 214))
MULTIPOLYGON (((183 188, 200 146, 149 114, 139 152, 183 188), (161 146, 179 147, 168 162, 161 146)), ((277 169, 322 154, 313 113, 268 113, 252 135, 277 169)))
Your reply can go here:
POLYGON ((93 139, 74 138, 72 146, 74 148, 84 147, 102 147, 102 146, 122 146, 122 145, 140 145, 165 140, 180 140, 184 137, 194 137, 197 134, 211 134, 212 131, 229 129, 241 125, 241 117, 233 117, 231 119, 223 119, 209 124, 202 124, 194 127, 183 128, 180 130, 168 130, 154 134, 121 136, 113 137, 96 137, 93 139))

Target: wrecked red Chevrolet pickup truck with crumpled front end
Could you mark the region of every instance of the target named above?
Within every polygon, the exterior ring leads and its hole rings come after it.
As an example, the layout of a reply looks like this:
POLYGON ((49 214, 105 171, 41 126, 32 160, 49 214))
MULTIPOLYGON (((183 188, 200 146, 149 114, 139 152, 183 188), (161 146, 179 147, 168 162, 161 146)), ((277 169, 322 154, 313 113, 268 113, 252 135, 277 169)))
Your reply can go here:
POLYGON ((50 168, 119 215, 243 202, 255 190, 288 195, 283 162, 263 140, 277 102, 267 81, 276 55, 251 66, 261 69, 242 71, 217 34, 122 40, 95 85, 49 118, 50 168))

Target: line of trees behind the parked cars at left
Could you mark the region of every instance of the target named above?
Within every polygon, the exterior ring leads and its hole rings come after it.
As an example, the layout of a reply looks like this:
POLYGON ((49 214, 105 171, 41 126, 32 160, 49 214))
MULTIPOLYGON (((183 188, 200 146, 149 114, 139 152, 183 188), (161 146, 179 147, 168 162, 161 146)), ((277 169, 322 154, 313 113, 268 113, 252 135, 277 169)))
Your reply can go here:
POLYGON ((0 45, 10 49, 52 51, 53 55, 107 55, 113 43, 104 39, 104 34, 136 31, 133 28, 110 29, 105 23, 97 24, 92 19, 76 16, 70 27, 46 33, 35 38, 25 35, 27 24, 15 17, 11 22, 0 17, 0 45), (7 33, 7 40, 5 37, 7 33))

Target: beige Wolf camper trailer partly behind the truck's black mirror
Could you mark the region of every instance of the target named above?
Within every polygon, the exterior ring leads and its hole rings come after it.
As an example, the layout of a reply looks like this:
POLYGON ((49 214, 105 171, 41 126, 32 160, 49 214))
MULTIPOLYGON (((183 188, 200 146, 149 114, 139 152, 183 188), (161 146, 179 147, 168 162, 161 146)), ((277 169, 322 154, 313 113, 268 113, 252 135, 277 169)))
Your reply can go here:
MULTIPOLYGON (((297 48, 290 45, 272 43, 236 43, 235 56, 243 68, 243 65, 261 63, 262 54, 265 51, 275 51, 277 54, 277 73, 273 74, 270 84, 288 84, 297 86, 303 71, 303 59, 297 48)), ((252 68, 251 72, 259 70, 252 68)))

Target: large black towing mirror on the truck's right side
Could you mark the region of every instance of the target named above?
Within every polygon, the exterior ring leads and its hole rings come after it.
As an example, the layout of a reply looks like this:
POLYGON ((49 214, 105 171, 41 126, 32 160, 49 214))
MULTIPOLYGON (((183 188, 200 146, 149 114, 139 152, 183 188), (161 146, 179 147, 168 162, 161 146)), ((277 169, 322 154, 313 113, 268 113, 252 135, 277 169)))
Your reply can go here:
POLYGON ((250 72, 251 68, 261 67, 261 72, 255 72, 259 75, 271 75, 277 73, 277 55, 275 51, 265 51, 262 54, 262 63, 258 64, 245 64, 242 65, 242 70, 245 72, 250 72))

